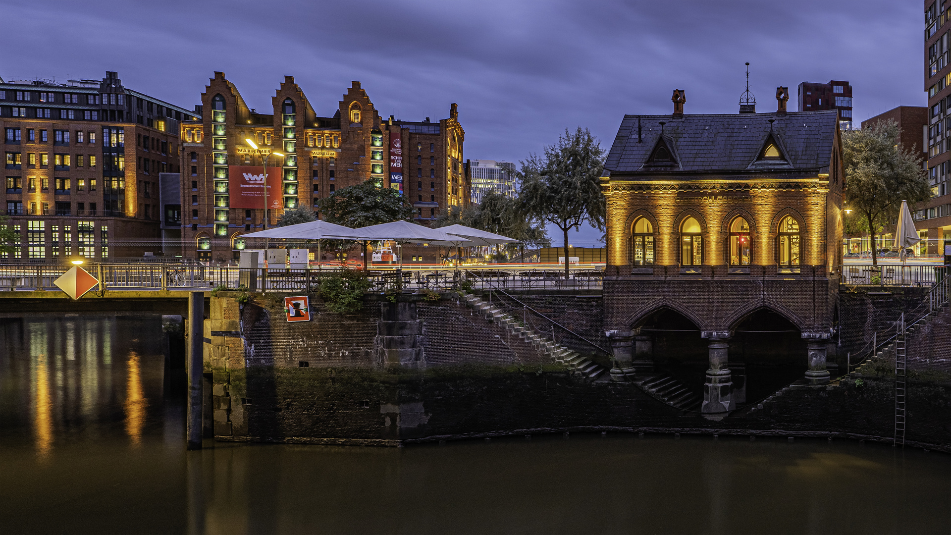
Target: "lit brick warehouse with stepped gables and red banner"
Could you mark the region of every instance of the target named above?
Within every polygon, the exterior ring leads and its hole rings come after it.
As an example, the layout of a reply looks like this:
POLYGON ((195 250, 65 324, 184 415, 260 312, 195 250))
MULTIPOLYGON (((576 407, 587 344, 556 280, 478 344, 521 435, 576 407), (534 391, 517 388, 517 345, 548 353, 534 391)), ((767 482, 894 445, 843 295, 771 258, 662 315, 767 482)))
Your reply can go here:
POLYGON ((215 72, 202 93, 204 114, 181 124, 185 257, 230 261, 245 247, 241 236, 262 228, 263 203, 253 208, 239 188, 263 180, 257 173, 264 174, 265 152, 282 154, 267 159, 267 180, 274 181, 268 188, 268 227, 284 210, 316 207, 338 188, 367 180, 409 195, 420 222, 469 202, 465 131, 455 104, 449 118, 437 123, 428 117, 384 120, 353 82, 332 113, 320 116, 294 78, 285 76, 271 105, 264 112, 249 108, 224 73, 215 72))

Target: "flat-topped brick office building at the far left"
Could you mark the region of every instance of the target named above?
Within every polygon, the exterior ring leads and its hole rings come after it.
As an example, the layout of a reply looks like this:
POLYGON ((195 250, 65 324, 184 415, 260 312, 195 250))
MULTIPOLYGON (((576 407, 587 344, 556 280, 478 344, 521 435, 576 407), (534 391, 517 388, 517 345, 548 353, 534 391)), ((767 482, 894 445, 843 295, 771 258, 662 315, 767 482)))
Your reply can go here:
POLYGON ((10 262, 161 253, 159 173, 178 168, 178 123, 194 115, 102 80, 0 80, 0 214, 21 232, 10 262))

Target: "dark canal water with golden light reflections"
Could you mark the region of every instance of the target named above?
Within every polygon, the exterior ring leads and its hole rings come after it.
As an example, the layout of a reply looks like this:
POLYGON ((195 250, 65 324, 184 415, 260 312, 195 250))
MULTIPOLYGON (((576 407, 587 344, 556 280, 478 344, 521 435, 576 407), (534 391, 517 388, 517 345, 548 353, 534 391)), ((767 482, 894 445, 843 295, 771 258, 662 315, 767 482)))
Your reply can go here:
POLYGON ((0 320, 2 533, 943 533, 951 456, 572 434, 184 451, 159 318, 0 320))

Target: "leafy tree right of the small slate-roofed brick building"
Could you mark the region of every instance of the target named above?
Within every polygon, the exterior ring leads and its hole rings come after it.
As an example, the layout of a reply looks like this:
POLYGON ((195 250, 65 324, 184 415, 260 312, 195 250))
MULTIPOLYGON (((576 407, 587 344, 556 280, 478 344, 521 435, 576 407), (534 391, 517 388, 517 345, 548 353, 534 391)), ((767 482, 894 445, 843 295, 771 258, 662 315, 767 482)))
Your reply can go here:
POLYGON ((898 125, 889 120, 842 136, 846 206, 855 212, 845 225, 868 232, 873 265, 878 265, 875 235, 898 221, 902 200, 914 206, 931 197, 922 159, 902 149, 898 135, 898 125))

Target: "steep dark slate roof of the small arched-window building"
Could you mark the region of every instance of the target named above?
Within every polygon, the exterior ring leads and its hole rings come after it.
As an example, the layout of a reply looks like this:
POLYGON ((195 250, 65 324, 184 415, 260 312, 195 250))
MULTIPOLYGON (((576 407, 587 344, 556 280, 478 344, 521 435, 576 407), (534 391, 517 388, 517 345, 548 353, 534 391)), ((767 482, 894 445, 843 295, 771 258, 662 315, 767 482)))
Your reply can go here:
POLYGON ((625 115, 604 168, 612 175, 658 172, 642 166, 657 144, 659 123, 664 121, 664 137, 669 138, 669 143, 673 141, 680 167, 660 172, 745 170, 763 149, 769 135, 769 119, 775 119, 773 135, 789 157, 790 165, 783 168, 828 167, 838 128, 835 109, 789 111, 786 115, 625 115), (638 118, 641 143, 637 143, 638 118))

